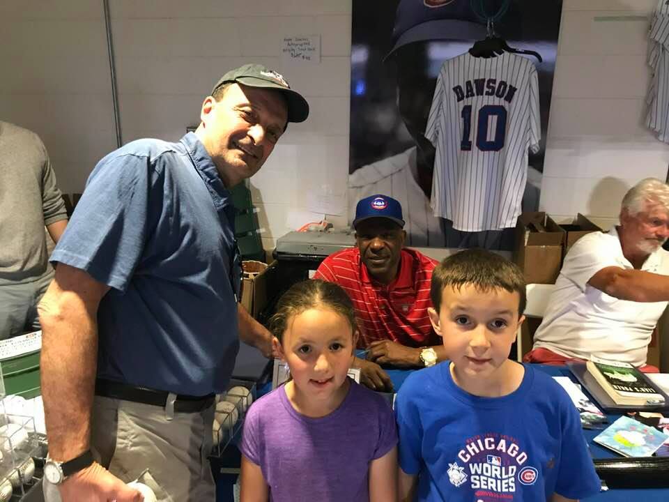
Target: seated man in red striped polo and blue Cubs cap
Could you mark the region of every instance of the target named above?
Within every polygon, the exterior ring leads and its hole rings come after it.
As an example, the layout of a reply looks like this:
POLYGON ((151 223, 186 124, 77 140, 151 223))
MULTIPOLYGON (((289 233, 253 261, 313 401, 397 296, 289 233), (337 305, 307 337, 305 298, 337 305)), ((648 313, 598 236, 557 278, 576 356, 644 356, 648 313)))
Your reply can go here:
POLYGON ((356 358, 364 385, 391 390, 379 365, 424 367, 445 359, 444 347, 427 315, 430 280, 437 262, 403 249, 402 207, 392 197, 371 195, 355 208, 357 246, 330 254, 314 278, 336 282, 353 301, 360 328, 356 358))

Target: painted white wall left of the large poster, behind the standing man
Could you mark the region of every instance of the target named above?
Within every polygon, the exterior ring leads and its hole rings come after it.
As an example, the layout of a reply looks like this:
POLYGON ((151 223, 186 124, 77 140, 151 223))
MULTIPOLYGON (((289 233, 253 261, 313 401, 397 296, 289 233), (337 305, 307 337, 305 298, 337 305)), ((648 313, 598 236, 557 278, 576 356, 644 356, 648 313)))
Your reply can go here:
MULTIPOLYGON (((311 106, 251 180, 263 245, 289 231, 289 208, 306 210, 307 193, 346 196, 351 0, 109 3, 124 143, 180 138, 225 71, 263 63, 311 106), (282 61, 282 38, 300 35, 321 36, 320 64, 282 61)), ((0 44, 0 119, 37 132, 61 190, 81 192, 116 148, 102 0, 2 1, 0 33, 11 41, 0 44)))

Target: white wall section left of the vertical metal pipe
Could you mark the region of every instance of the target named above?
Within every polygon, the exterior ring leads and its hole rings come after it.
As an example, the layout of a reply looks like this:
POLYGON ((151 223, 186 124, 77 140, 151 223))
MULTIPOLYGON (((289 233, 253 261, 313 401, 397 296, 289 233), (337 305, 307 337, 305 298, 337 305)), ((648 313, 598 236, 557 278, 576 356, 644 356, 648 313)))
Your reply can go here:
POLYGON ((61 188, 81 192, 116 146, 102 1, 2 1, 0 33, 0 120, 37 132, 61 188))

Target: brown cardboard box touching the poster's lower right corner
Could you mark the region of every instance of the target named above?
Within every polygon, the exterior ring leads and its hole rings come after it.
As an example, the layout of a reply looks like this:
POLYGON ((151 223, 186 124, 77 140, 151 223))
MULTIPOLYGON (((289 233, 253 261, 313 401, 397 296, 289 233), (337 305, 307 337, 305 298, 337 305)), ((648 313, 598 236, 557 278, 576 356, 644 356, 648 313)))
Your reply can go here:
POLYGON ((543 211, 518 216, 514 261, 528 284, 555 283, 566 236, 567 232, 543 211))

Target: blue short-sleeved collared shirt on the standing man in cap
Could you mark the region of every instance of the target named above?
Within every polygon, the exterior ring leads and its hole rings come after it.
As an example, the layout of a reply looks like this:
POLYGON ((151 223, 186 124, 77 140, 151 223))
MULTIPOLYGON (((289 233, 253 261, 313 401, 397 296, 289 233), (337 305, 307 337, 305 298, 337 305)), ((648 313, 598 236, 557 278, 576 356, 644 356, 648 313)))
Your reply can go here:
POLYGON ((98 309, 98 377, 224 390, 240 263, 230 192, 196 135, 141 139, 100 160, 52 261, 112 287, 98 309))

